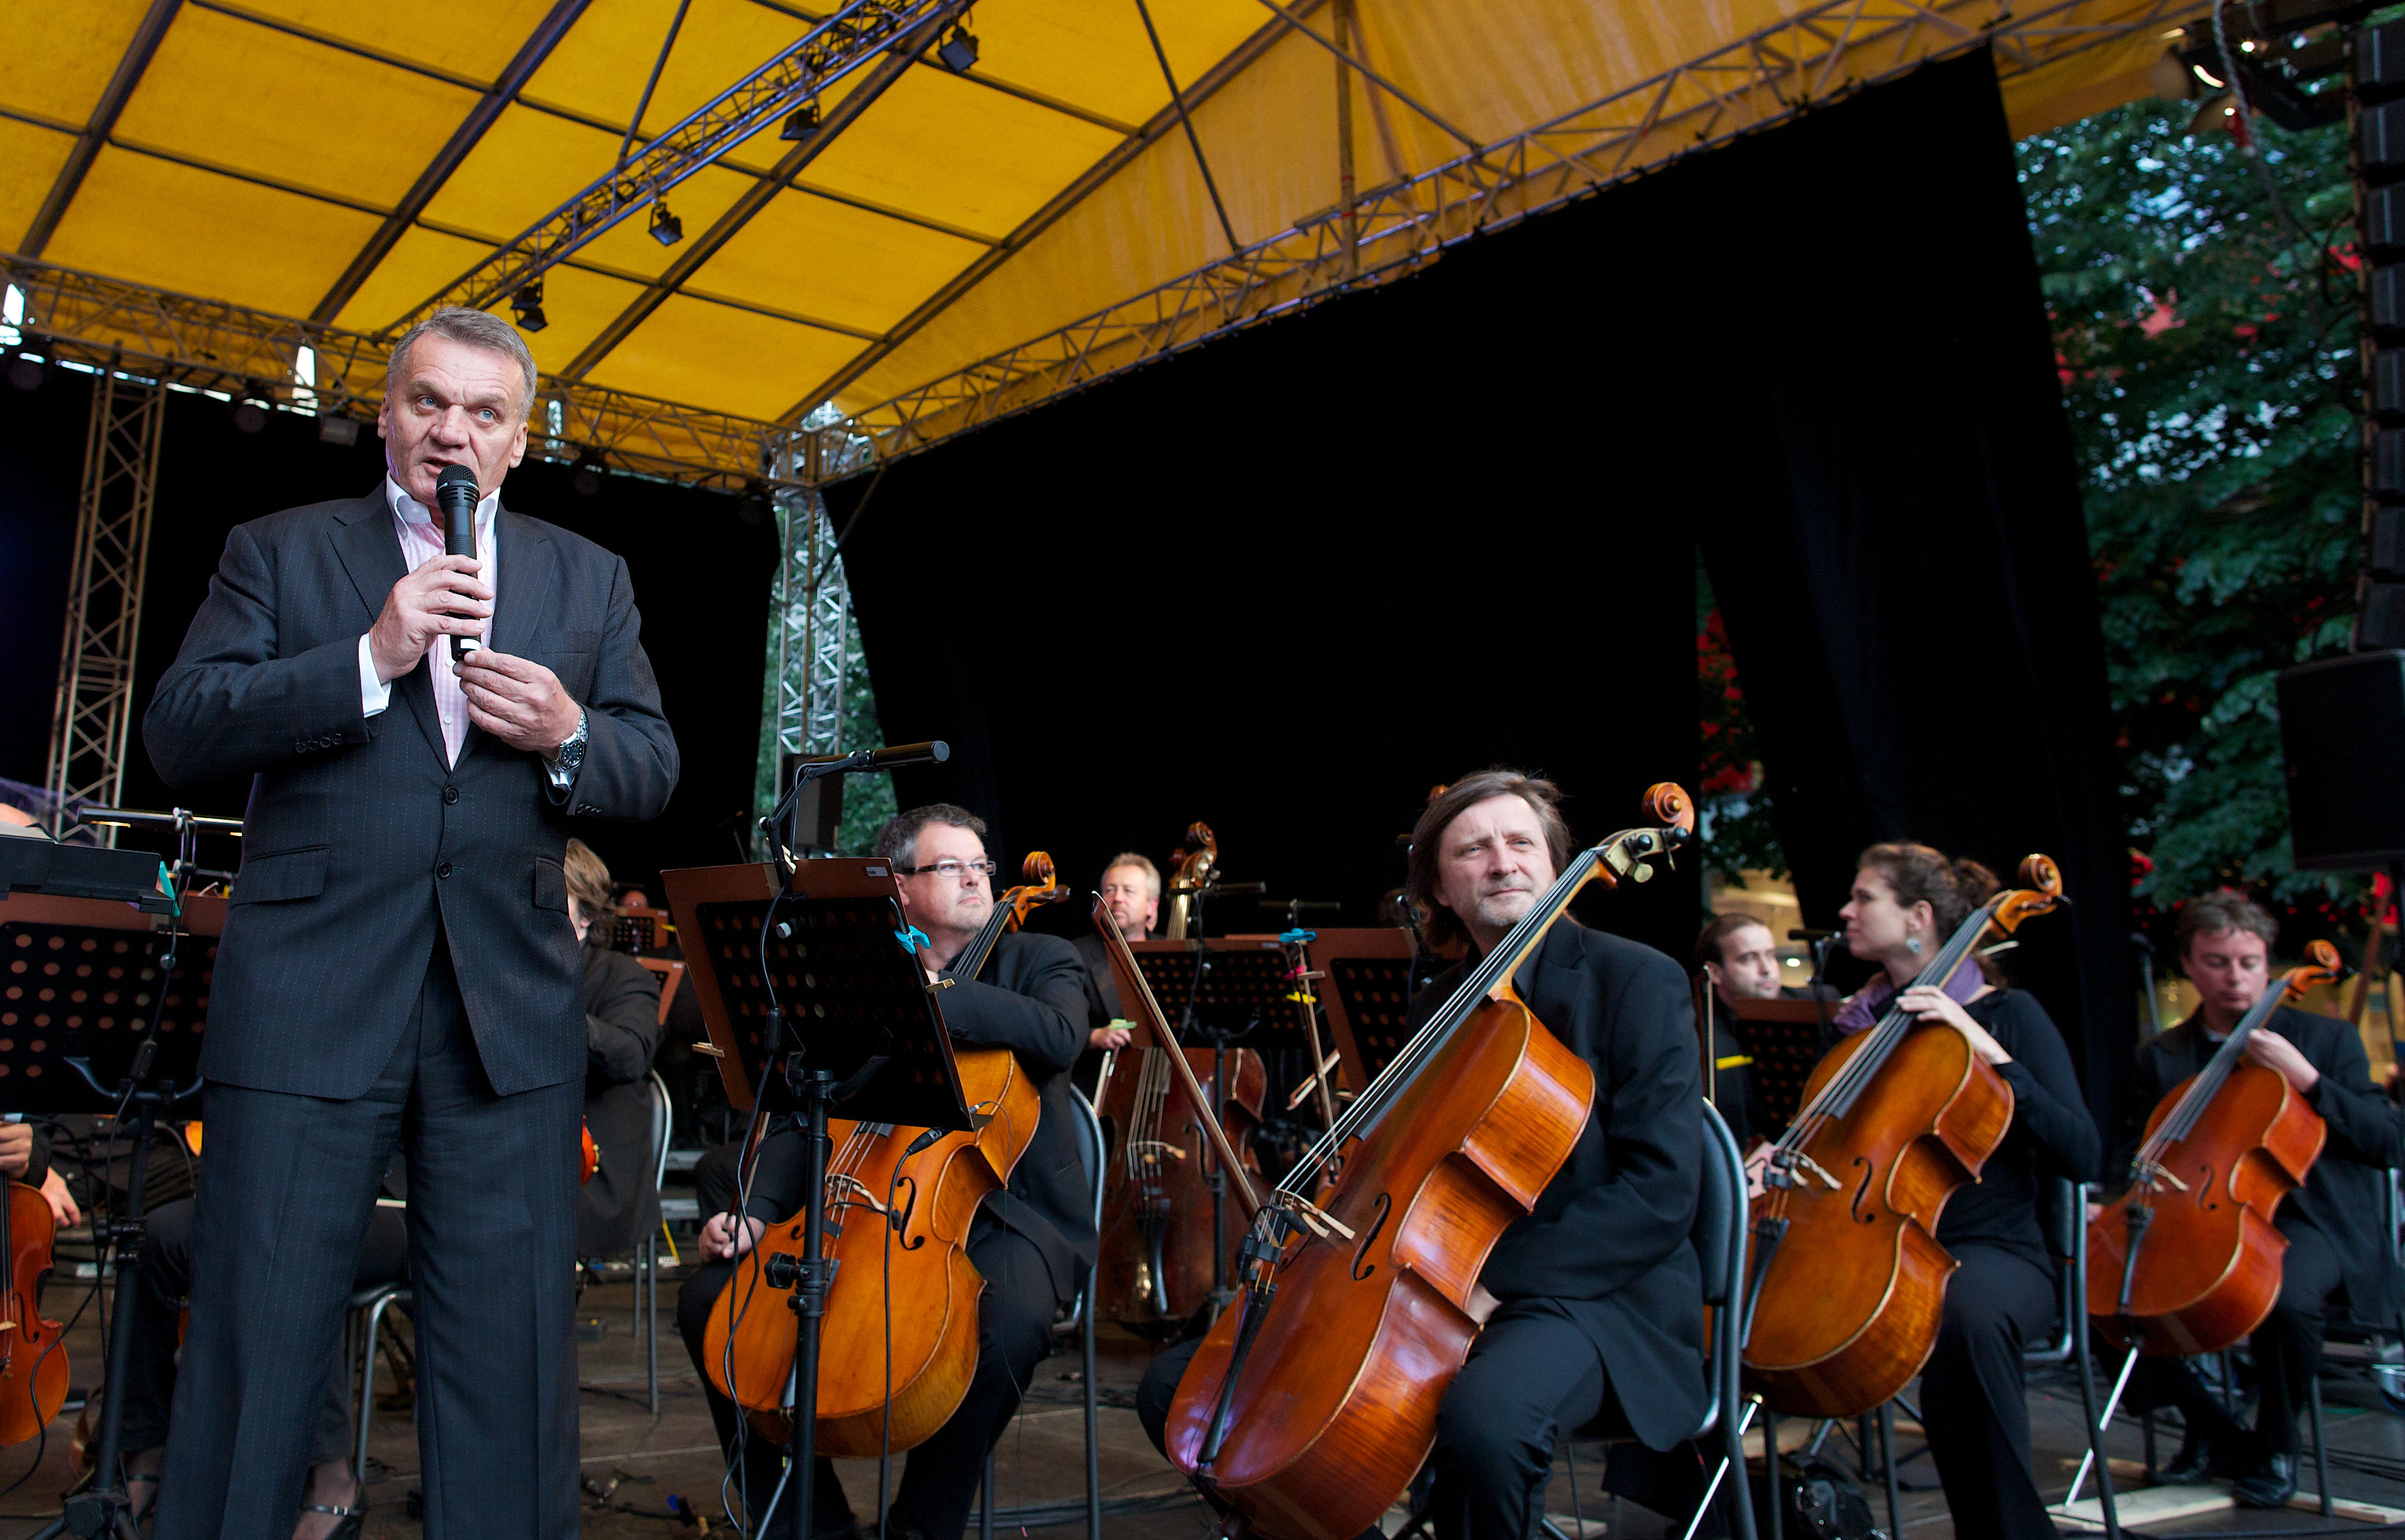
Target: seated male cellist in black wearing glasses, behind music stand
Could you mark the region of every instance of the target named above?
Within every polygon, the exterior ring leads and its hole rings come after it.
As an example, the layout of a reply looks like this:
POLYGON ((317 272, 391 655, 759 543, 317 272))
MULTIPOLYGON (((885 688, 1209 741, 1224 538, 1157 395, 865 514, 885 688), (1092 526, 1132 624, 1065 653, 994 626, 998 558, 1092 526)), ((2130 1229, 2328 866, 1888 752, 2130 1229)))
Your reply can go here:
MULTIPOLYGON (((964 807, 933 802, 885 824, 875 853, 895 862, 902 911, 926 932, 938 966, 960 956, 993 913, 993 860, 986 824, 964 807)), ((1034 1141, 1010 1172, 1010 1187, 986 1196, 969 1230, 969 1261, 986 1278, 979 1295, 979 1357, 969 1393, 926 1444, 914 1449, 895 1490, 885 1533, 904 1540, 960 1540, 969 1504, 984 1475, 986 1451, 1003 1437, 1027 1391, 1029 1374, 1051 1348, 1061 1307, 1094 1266, 1094 1187, 1077 1141, 1077 1096, 1070 1064, 1087 1040, 1085 963, 1061 937, 1005 935, 976 983, 955 980, 943 992, 943 1019, 962 1043, 1008 1045, 1041 1091, 1044 1112, 1034 1141)), ((702 1369, 709 1413, 729 1458, 741 1463, 743 1502, 760 1514, 777 1487, 784 1451, 758 1437, 734 1403, 709 1381, 702 1345, 709 1307, 734 1278, 734 1259, 753 1247, 767 1223, 791 1218, 803 1206, 808 1151, 796 1132, 762 1141, 746 1218, 734 1208, 734 1151, 712 1151, 695 1172, 702 1225, 702 1266, 685 1281, 676 1324, 693 1362, 702 1369)), ((875 1288, 875 1278, 837 1278, 835 1288, 875 1288)), ((897 1302, 899 1307, 899 1302, 897 1302)), ((791 1502, 791 1497, 786 1497, 791 1502)), ((820 1468, 813 1535, 849 1533, 851 1509, 820 1468)), ((758 1528, 755 1528, 758 1533, 758 1528)), ((779 1504, 767 1535, 796 1535, 791 1509, 779 1504)))

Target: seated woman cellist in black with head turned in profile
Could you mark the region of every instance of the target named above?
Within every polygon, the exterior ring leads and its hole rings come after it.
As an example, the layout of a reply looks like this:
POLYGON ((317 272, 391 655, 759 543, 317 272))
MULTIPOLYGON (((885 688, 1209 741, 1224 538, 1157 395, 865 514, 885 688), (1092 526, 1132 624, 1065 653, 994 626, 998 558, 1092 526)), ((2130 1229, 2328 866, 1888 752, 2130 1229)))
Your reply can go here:
POLYGON ((1847 949, 1883 968, 1837 1011, 1840 1031, 1873 1026, 1895 1002, 1919 1021, 1962 1033, 2013 1088, 2013 1127, 1977 1182, 1955 1187, 1936 1240, 1960 1269, 1946 1285, 1938 1341, 1922 1369, 1922 1425, 1946 1485, 1960 1540, 2054 1540, 2054 1521, 2030 1468, 2030 1403, 2020 1353, 2056 1319, 2054 1261, 2037 1225, 2037 1182, 2085 1182, 2097 1129, 2080 1098, 2054 1019, 2023 990, 1962 966, 1946 987, 1910 987, 1996 877, 1975 860, 1948 862, 1929 846, 1886 843, 1861 853, 1852 901, 1840 911, 1847 949))

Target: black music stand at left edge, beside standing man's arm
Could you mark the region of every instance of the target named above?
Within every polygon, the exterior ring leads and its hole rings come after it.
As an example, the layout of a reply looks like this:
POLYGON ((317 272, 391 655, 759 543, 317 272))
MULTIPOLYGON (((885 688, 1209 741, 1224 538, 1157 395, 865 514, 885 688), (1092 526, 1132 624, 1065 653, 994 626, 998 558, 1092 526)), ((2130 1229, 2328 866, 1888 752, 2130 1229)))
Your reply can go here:
MULTIPOLYGON (((156 865, 156 858, 152 858, 156 865)), ((149 901, 149 899, 144 899, 149 901)), ((142 1189, 159 1110, 200 1091, 224 899, 185 899, 183 915, 149 915, 108 899, 10 894, 0 899, 0 1103, 14 1112, 132 1112, 125 1218, 91 1220, 115 1247, 118 1309, 108 1324, 96 1480, 41 1530, 135 1538, 118 1437, 132 1357, 142 1189)))

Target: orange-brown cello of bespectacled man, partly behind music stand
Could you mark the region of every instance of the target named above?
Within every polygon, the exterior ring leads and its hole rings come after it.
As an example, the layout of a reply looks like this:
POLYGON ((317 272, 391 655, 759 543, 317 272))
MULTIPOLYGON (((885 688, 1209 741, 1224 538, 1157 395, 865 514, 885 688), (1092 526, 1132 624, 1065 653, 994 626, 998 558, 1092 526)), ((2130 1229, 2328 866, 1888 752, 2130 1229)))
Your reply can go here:
MULTIPOLYGON (((1029 853, 1020 870, 1025 884, 996 901, 948 978, 974 980, 1032 906, 1068 896, 1044 850, 1029 853)), ((976 1372, 976 1297, 986 1281, 969 1261, 969 1225, 986 1194, 1010 1184, 1037 1134, 1039 1100, 1008 1047, 955 1043, 952 1060, 969 1110, 984 1115, 979 1129, 827 1122, 835 1156, 825 1257, 844 1285, 827 1293, 820 1326, 818 1454, 825 1456, 873 1461, 924 1444, 960 1410, 976 1372)), ((801 1254, 803 1213, 762 1230, 736 1264, 709 1309, 702 1355, 712 1384, 779 1444, 789 1432, 794 1283, 777 1283, 784 1278, 777 1257, 801 1254)))

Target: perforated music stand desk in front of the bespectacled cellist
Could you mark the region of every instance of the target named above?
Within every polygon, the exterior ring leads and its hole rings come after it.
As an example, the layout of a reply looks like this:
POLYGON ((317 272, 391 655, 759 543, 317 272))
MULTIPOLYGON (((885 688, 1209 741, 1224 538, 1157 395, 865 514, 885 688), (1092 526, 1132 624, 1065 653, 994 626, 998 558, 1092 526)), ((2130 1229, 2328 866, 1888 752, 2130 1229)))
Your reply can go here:
POLYGON ((770 987, 760 975, 760 927, 770 901, 784 937, 767 937, 777 971, 774 1004, 806 1045, 806 1062, 849 1081, 871 1057, 890 1055, 835 1112, 914 1129, 974 1129, 952 1064, 952 1035, 919 961, 895 942, 902 894, 885 860, 806 860, 779 884, 767 862, 661 872, 685 973, 717 1050, 726 1103, 750 1112, 798 1110, 770 1074, 770 987))

